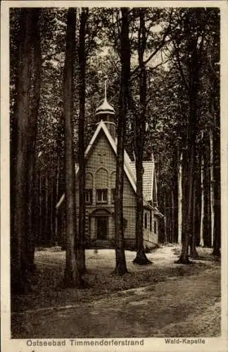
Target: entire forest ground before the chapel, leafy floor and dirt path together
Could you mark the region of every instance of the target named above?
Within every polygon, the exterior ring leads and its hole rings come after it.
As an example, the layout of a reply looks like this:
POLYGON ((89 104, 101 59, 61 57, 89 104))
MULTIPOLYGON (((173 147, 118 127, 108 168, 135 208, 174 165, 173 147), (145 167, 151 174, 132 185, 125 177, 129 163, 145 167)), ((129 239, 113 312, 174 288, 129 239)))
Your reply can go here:
POLYGON ((178 246, 148 253, 151 265, 113 275, 115 251, 86 251, 86 289, 63 289, 65 252, 36 251, 30 294, 12 298, 13 338, 220 336, 220 261, 198 249, 193 265, 175 264, 178 246))

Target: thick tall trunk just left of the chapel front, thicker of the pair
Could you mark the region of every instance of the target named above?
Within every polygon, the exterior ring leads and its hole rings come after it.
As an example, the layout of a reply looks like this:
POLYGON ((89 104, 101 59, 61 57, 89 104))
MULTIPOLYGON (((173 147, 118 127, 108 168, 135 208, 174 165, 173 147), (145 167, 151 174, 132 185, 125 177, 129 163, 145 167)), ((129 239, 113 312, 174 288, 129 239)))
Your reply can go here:
POLYGON ((65 67, 63 76, 63 114, 65 120, 65 213, 66 213, 66 254, 65 287, 79 287, 81 274, 75 256, 75 241, 78 246, 75 209, 75 156, 73 146, 73 70, 75 63, 76 10, 68 8, 65 67))

